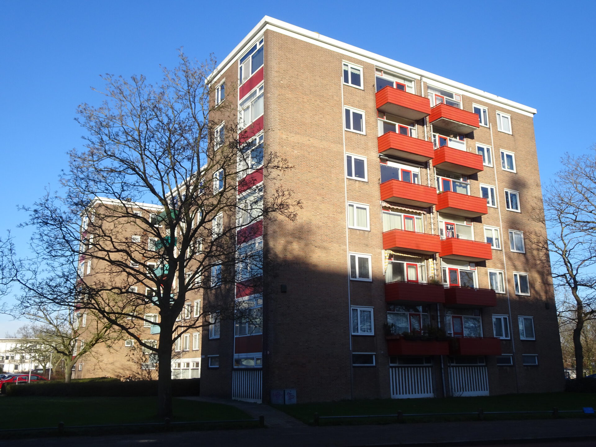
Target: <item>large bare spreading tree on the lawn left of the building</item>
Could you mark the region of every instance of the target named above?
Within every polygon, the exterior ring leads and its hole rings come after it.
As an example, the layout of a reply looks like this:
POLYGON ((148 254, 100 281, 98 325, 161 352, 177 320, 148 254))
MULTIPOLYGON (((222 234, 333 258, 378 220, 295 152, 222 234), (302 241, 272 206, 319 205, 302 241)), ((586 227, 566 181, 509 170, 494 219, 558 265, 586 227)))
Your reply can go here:
MULTIPOLYGON (((49 301, 92 311, 157 353, 162 417, 172 415, 173 343, 238 313, 254 317, 234 287, 262 269, 259 222, 294 219, 300 206, 291 190, 263 191, 260 179, 290 166, 251 138, 261 129, 239 128, 233 85, 214 103, 214 68, 181 54, 156 85, 104 76, 103 104, 79 106, 86 145, 70 152, 63 193, 26 207, 46 271, 77 268, 75 303, 49 301), (211 304, 189 313, 188 300, 203 294, 211 304), (145 318, 149 306, 157 321, 145 318), (145 325, 157 327, 157 346, 141 335, 145 325)), ((255 101, 262 107, 262 95, 255 101)))

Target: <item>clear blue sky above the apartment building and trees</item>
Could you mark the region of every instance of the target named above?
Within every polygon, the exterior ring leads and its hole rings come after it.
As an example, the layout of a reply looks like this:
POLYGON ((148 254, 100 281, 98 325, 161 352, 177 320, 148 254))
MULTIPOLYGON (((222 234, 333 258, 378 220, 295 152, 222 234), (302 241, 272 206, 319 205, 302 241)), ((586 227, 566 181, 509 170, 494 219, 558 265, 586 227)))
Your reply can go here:
MULTIPOLYGON (((27 232, 17 204, 57 189, 66 152, 82 147, 78 104, 97 104, 99 75, 144 74, 175 66, 176 50, 218 60, 270 15, 538 109, 542 181, 564 151, 596 142, 596 2, 426 1, 249 2, 13 1, 0 17, 0 129, 4 209, 19 249, 27 232), (579 125, 582 123, 582 125, 579 125)), ((0 315, 0 337, 21 322, 0 315)))

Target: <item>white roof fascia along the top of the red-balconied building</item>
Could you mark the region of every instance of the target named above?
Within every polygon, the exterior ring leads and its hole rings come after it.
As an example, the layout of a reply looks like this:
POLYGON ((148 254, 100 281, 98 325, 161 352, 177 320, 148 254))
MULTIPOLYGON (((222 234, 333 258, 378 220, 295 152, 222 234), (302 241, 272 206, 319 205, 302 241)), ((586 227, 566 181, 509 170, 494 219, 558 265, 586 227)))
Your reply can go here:
POLYGON ((433 85, 436 85, 436 82, 443 83, 443 85, 445 85, 448 89, 460 89, 461 94, 477 98, 491 104, 500 105, 502 107, 506 107, 508 110, 513 110, 527 116, 533 116, 533 114, 536 113, 535 108, 528 107, 527 105, 516 103, 516 101, 507 100, 506 98, 499 97, 498 95, 482 91, 443 76, 434 75, 434 73, 417 69, 416 67, 409 66, 408 64, 375 54, 371 51, 358 48, 357 46, 337 41, 336 39, 328 38, 327 36, 322 36, 319 33, 315 33, 293 24, 277 20, 277 18, 269 17, 268 15, 265 15, 265 17, 259 21, 259 23, 250 31, 250 33, 244 39, 242 39, 240 44, 238 44, 224 58, 224 60, 222 60, 212 75, 207 78, 207 82, 214 82, 217 80, 221 73, 224 73, 229 68, 230 64, 235 61, 235 58, 238 56, 240 51, 242 51, 247 44, 252 41, 252 39, 256 39, 258 37, 257 35, 260 35, 260 33, 263 33, 268 29, 296 39, 300 39, 305 42, 309 42, 314 45, 322 46, 323 48, 330 49, 331 51, 336 51, 341 54, 366 61, 378 66, 381 69, 386 69, 394 73, 412 77, 414 79, 423 79, 425 82, 434 81, 432 82, 433 85))

